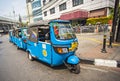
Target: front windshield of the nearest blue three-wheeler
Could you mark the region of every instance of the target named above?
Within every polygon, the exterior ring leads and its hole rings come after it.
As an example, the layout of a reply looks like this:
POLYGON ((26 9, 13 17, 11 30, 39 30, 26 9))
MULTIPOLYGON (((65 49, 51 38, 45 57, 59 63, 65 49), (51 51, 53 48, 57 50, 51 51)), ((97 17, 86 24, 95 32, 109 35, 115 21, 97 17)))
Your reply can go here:
POLYGON ((74 31, 69 23, 57 23, 54 25, 54 33, 57 39, 76 38, 74 31))

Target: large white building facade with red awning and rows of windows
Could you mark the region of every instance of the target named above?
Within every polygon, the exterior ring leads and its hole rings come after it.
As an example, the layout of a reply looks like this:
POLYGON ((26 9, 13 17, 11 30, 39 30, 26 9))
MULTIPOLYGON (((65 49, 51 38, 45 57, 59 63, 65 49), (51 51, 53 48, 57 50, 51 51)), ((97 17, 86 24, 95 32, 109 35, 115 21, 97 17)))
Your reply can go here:
POLYGON ((85 24, 87 18, 105 17, 114 0, 41 0, 43 20, 70 20, 85 24))

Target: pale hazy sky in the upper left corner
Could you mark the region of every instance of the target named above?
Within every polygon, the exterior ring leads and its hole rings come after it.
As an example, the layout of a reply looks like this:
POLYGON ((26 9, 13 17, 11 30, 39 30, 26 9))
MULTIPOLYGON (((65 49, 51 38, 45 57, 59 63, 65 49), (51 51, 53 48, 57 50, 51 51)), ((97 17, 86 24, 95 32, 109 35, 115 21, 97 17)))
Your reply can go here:
POLYGON ((0 0, 0 16, 13 18, 13 10, 15 18, 19 14, 23 17, 27 15, 26 0, 0 0))

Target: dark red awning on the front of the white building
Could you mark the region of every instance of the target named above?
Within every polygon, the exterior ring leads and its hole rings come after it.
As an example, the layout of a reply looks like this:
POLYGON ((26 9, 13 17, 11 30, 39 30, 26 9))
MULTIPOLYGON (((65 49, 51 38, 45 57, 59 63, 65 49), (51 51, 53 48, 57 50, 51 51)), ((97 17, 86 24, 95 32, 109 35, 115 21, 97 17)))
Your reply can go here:
POLYGON ((85 10, 76 10, 67 13, 63 13, 60 16, 62 20, 72 20, 72 19, 79 19, 79 18, 88 18, 88 12, 85 10))

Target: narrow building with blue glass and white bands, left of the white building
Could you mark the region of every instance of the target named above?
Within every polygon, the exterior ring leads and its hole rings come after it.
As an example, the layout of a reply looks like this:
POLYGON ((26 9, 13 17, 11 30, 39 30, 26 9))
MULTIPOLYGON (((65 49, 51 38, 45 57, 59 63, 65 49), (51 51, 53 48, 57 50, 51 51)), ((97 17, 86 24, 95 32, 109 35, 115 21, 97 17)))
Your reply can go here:
POLYGON ((42 20, 41 0, 32 1, 32 14, 34 22, 42 20))

